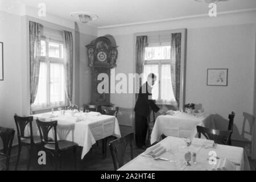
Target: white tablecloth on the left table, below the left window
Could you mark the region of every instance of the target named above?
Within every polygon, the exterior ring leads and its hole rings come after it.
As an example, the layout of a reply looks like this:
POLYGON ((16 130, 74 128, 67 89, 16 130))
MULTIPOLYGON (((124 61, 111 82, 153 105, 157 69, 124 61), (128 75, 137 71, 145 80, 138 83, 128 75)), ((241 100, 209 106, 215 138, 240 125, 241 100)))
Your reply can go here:
MULTIPOLYGON (((51 113, 47 113, 47 115, 48 114, 51 115, 51 113)), ((46 116, 46 113, 35 114, 32 116, 34 117, 34 121, 36 118, 46 119, 43 118, 44 116, 46 116)), ((71 130, 68 135, 65 136, 65 140, 76 142, 77 144, 79 144, 79 146, 83 147, 81 159, 84 158, 85 154, 87 154, 92 145, 96 143, 96 140, 100 140, 112 135, 117 138, 121 137, 117 118, 112 115, 94 116, 93 114, 86 115, 86 113, 77 113, 72 117, 68 114, 60 115, 59 111, 55 111, 53 113, 53 117, 46 119, 46 121, 55 120, 57 120, 58 125, 61 125, 62 128, 71 130)), ((34 122, 33 124, 34 135, 39 135, 39 130, 36 126, 36 122, 34 122)), ((58 129, 59 128, 57 127, 57 130, 58 129)), ((28 133, 28 129, 26 131, 28 133)), ((58 133, 58 139, 60 138, 60 133, 58 133)), ((53 138, 52 132, 49 132, 49 137, 53 138)))

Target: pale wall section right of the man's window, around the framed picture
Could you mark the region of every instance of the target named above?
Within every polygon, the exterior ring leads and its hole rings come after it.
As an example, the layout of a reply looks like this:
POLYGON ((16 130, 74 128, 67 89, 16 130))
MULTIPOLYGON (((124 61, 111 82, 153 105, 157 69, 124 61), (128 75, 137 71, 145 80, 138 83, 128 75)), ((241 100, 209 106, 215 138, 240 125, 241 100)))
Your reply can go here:
POLYGON ((255 31, 255 24, 188 30, 186 102, 218 114, 219 129, 234 111, 233 138, 240 138, 242 112, 253 114, 255 31), (228 86, 207 86, 207 68, 228 68, 228 86))

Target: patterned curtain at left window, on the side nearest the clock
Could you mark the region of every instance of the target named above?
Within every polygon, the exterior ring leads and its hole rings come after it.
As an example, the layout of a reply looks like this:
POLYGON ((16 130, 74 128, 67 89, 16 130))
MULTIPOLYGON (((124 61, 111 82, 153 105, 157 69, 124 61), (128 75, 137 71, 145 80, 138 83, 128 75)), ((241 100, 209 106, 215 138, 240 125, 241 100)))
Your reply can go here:
POLYGON ((63 31, 64 39, 64 77, 65 93, 68 97, 69 105, 72 104, 73 88, 73 38, 72 32, 63 31))

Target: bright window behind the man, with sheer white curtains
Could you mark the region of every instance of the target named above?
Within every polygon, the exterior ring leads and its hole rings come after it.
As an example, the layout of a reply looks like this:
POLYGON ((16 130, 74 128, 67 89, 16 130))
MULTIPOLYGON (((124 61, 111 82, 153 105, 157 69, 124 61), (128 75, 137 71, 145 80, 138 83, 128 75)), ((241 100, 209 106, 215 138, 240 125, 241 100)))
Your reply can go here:
POLYGON ((175 104, 171 82, 171 46, 146 47, 143 81, 149 73, 157 76, 152 88, 152 99, 159 104, 175 104))

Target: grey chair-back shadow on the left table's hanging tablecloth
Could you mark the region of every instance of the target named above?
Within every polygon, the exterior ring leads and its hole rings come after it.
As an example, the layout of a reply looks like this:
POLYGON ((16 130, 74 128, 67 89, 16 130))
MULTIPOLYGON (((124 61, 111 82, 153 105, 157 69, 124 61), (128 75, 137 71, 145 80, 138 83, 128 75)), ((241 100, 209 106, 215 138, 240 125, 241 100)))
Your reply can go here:
POLYGON ((75 130, 75 123, 71 123, 69 125, 58 124, 57 135, 60 140, 67 140, 69 133, 72 132, 72 142, 74 142, 74 130, 75 130))

